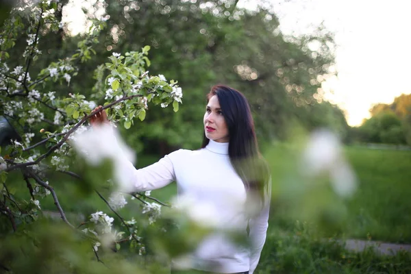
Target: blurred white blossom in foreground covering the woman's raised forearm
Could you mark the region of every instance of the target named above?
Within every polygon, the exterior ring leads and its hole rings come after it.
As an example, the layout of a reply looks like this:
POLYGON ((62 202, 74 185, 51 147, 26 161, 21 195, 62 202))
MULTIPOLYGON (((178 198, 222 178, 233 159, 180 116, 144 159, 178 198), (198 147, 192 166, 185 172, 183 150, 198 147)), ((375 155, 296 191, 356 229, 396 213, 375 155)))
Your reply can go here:
POLYGON ((104 159, 112 160, 114 180, 121 190, 129 190, 129 175, 123 172, 122 165, 125 162, 134 163, 134 153, 112 125, 89 127, 85 132, 75 134, 71 141, 75 150, 93 166, 101 164, 104 159))

